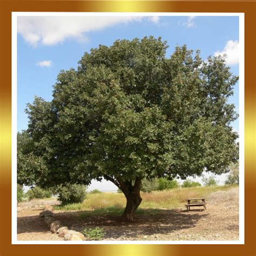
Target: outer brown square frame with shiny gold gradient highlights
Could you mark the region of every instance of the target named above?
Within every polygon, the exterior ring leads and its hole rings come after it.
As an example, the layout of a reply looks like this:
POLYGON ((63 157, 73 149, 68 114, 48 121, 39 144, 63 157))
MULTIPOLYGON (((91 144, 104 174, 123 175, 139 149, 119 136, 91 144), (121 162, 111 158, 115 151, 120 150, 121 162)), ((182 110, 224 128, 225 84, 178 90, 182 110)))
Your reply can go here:
POLYGON ((255 2, 2 1, 0 94, 0 255, 255 255, 255 2), (244 12, 245 245, 11 245, 11 12, 244 12))

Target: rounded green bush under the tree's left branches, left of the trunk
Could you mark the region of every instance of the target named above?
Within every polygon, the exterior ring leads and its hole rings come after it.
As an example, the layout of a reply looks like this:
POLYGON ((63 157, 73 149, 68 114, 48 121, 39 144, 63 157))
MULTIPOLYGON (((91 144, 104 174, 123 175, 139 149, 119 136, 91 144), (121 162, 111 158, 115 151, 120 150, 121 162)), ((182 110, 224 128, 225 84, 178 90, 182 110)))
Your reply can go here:
POLYGON ((82 203, 86 197, 86 186, 80 184, 63 184, 57 187, 58 200, 63 204, 82 203))

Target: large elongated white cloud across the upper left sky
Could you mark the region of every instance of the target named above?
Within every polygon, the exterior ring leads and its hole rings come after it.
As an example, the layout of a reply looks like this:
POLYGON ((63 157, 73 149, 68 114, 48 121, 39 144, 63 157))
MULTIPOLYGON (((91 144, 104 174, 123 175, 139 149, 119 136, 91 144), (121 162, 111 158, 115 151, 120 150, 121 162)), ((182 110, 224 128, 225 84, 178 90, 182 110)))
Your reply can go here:
MULTIPOLYGON (((101 30, 109 26, 133 21, 140 22, 141 16, 19 16, 18 33, 33 46, 55 45, 68 38, 86 41, 86 32, 101 30)), ((159 17, 149 19, 153 23, 159 17)))

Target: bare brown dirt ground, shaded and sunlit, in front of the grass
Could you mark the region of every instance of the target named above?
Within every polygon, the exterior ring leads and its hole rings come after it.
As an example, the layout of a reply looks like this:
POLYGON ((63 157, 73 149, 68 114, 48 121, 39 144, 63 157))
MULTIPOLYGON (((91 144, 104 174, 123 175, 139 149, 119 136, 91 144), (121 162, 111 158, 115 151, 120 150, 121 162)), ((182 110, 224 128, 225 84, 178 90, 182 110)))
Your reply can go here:
MULTIPOLYGON (((55 211, 56 219, 69 229, 83 232, 84 228, 103 227, 103 240, 238 240, 239 191, 232 188, 212 193, 207 198, 207 210, 186 211, 160 209, 157 214, 138 214, 134 223, 122 223, 118 217, 82 217, 81 211, 55 211)), ((56 201, 48 201, 55 204, 56 201)), ((33 204, 33 203, 31 203, 33 204)), ((38 204, 38 202, 37 202, 38 204)), ((36 207, 19 205, 18 240, 63 240, 51 234, 39 218, 44 201, 36 207)))

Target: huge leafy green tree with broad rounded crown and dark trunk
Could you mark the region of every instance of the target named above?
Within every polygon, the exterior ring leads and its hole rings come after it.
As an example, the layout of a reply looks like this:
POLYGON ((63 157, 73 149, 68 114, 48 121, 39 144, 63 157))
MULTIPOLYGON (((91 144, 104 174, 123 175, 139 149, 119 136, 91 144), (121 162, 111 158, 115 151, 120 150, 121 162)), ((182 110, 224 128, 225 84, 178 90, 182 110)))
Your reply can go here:
MULTIPOLYGON (((238 158, 237 118, 227 99, 238 77, 223 57, 203 62, 184 45, 166 57, 161 38, 118 40, 61 71, 53 99, 28 104, 43 186, 112 181, 126 197, 124 220, 140 205, 142 179, 223 173, 238 158)), ((28 174, 30 176, 30 174, 28 174)))

